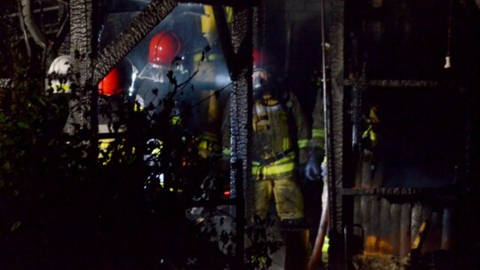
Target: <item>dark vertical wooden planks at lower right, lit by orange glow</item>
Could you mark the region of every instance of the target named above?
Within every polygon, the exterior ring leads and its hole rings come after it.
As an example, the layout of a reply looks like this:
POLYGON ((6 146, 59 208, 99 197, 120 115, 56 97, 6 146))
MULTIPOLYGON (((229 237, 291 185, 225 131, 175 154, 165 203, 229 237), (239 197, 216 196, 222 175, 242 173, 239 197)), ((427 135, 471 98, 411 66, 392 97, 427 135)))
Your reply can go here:
MULTIPOLYGON (((356 187, 381 187, 383 171, 372 155, 364 155, 356 169, 356 187)), ((354 202, 353 232, 362 239, 365 255, 407 256, 424 222, 428 229, 421 252, 452 248, 450 203, 422 195, 356 195, 354 202)))

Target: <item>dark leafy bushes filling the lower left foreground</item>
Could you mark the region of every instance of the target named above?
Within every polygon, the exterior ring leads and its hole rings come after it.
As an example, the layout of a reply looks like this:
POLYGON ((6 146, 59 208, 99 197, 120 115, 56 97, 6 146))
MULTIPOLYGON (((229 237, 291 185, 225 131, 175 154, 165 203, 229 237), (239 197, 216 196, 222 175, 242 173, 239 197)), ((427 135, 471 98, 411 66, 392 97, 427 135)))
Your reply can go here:
MULTIPOLYGON (((0 32, 12 37, 9 23, 0 32)), ((8 78, 0 89, 2 267, 235 267, 235 217, 212 202, 228 178, 219 171, 220 153, 201 157, 199 134, 172 121, 191 115, 190 104, 175 107, 183 91, 195 90, 191 77, 177 82, 168 74, 172 91, 157 114, 151 113, 160 104, 138 110, 127 99, 100 97, 100 115, 114 130, 102 143, 78 123, 73 132, 63 131, 67 115, 77 113, 72 104, 85 99, 74 86, 71 94, 45 91, 42 52, 33 50, 28 57, 22 42, 11 38, 0 44, 1 74, 8 78), (121 107, 122 117, 112 103, 121 107), (126 131, 116 132, 119 125, 126 131)), ((220 91, 210 98, 218 99, 220 91)), ((271 265, 268 256, 280 242, 271 242, 267 226, 247 230, 252 243, 246 250, 248 266, 242 268, 271 265)))

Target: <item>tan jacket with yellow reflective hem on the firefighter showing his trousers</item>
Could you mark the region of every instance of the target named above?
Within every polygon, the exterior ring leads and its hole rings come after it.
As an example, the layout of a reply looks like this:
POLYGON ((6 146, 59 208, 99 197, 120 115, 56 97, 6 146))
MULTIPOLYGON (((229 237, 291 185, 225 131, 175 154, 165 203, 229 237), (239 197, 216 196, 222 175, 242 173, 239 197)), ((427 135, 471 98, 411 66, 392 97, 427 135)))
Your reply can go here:
MULTIPOLYGON (((252 106, 252 173, 257 177, 293 177, 295 169, 294 145, 299 148, 298 160, 307 162, 308 126, 300 107, 298 99, 289 94, 289 112, 276 99, 257 100, 252 106), (290 131, 289 115, 295 131, 290 131), (292 141, 292 133, 296 141, 292 141), (290 153, 289 153, 290 152, 290 153), (287 154, 288 153, 288 154, 287 154), (284 155, 283 155, 284 154, 284 155), (281 156, 281 159, 277 159, 281 156), (273 159, 273 160, 272 160, 273 159), (268 161, 268 162, 266 162, 268 161)), ((223 132, 223 154, 230 155, 230 115, 229 102, 227 104, 223 132)))

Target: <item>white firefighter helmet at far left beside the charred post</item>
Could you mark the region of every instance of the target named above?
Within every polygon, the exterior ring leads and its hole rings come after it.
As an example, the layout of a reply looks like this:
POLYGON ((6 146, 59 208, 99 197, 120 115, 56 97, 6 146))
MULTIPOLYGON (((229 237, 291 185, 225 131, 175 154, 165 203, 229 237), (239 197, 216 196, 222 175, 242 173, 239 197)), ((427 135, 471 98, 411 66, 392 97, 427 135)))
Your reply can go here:
POLYGON ((69 93, 70 89, 70 56, 60 55, 52 61, 48 68, 47 89, 52 88, 53 93, 69 93))

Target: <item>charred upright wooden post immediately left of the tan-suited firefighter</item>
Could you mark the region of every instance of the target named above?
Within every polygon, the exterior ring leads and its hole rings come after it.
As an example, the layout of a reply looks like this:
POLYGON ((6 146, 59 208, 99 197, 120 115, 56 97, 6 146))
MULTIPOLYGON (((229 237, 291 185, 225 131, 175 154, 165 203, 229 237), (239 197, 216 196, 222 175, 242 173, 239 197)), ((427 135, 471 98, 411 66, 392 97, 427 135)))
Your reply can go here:
POLYGON ((244 263, 244 226, 253 217, 252 207, 252 7, 234 7, 232 34, 225 16, 215 9, 220 41, 233 81, 230 95, 230 193, 236 199, 237 269, 244 263))

